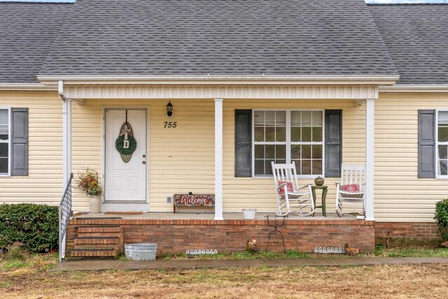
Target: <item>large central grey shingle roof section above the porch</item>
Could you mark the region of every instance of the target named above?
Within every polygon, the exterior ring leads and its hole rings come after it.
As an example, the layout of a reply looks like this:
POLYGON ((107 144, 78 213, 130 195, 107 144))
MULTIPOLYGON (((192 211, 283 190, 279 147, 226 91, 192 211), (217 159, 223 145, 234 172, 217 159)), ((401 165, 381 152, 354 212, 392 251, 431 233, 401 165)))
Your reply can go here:
POLYGON ((396 75, 363 0, 77 0, 41 75, 396 75))

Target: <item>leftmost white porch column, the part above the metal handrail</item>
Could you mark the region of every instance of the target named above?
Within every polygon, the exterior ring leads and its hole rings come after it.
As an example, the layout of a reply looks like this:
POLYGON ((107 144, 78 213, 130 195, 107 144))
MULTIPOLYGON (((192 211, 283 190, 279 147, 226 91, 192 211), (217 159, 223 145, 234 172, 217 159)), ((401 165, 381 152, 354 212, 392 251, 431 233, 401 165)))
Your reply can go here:
POLYGON ((62 101, 62 177, 64 178, 63 191, 69 182, 71 173, 71 100, 62 101))

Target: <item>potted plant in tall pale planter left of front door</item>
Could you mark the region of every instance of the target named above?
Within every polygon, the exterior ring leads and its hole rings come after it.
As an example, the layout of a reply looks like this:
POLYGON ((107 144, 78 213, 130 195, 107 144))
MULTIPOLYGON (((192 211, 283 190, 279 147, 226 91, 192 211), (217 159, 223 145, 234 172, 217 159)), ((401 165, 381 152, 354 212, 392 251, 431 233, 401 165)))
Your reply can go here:
POLYGON ((90 196, 90 213, 98 214, 101 212, 101 195, 103 190, 98 180, 96 170, 86 168, 78 172, 78 180, 76 186, 79 191, 85 192, 90 196))

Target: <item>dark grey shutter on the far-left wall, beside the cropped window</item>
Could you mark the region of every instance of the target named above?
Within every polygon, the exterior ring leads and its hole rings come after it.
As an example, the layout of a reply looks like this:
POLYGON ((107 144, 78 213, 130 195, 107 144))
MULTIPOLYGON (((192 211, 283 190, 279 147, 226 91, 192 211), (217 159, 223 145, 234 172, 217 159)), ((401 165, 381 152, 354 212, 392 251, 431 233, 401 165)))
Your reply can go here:
POLYGON ((11 175, 28 175, 28 108, 11 108, 11 175))

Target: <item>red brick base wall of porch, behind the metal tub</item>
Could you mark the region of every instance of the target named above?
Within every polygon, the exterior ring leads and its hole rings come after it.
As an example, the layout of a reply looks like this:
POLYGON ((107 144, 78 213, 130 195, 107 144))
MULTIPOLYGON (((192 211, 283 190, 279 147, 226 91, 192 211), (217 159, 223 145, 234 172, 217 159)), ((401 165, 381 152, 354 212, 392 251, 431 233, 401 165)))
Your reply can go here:
MULTIPOLYGON (((258 249, 265 250, 269 231, 264 220, 148 220, 148 219, 71 219, 67 250, 73 249, 78 226, 120 225, 126 243, 153 242, 158 252, 185 253, 189 249, 216 249, 237 252, 246 249, 248 238, 255 236, 258 249)), ((375 241, 374 221, 288 219, 279 228, 286 249, 311 252, 314 247, 351 247, 372 251, 375 241)), ((269 250, 280 251, 280 235, 273 235, 269 250)))

